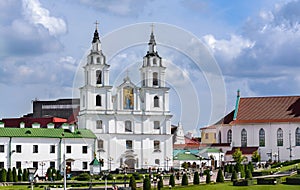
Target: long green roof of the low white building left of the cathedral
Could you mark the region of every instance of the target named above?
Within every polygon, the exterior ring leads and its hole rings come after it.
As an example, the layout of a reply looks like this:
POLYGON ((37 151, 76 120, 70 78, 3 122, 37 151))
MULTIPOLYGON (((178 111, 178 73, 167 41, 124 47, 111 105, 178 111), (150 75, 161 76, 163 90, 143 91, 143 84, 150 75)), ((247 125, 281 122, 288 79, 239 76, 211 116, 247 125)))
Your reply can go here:
POLYGON ((68 129, 49 128, 0 128, 0 137, 41 137, 41 138, 97 138, 88 129, 78 129, 72 133, 68 129))

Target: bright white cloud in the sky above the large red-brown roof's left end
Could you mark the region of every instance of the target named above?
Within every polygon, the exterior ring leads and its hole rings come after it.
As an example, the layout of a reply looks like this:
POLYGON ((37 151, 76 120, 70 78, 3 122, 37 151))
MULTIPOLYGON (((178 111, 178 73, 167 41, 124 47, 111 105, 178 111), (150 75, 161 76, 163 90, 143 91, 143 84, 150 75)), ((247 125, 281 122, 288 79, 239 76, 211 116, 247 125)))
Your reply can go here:
POLYGON ((217 40, 209 34, 203 36, 203 41, 215 55, 220 55, 226 60, 237 58, 244 49, 251 49, 255 45, 254 42, 237 35, 231 35, 230 40, 217 40))

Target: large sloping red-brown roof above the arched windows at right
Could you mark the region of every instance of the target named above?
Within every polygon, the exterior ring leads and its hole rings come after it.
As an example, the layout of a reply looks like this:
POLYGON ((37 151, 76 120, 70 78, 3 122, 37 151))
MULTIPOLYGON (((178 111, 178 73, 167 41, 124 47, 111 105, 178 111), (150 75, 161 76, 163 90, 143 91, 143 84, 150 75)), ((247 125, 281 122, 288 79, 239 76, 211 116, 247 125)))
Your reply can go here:
POLYGON ((300 122, 300 96, 241 98, 233 123, 300 122))

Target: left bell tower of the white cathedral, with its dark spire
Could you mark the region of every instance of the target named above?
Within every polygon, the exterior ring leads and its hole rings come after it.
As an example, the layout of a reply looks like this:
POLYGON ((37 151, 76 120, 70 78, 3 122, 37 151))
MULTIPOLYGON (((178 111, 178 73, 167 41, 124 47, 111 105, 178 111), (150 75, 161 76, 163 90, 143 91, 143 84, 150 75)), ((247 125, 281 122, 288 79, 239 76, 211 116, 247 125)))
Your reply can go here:
MULTIPOLYGON (((94 32, 91 51, 84 68, 84 86, 80 88, 80 126, 92 126, 88 121, 97 114, 105 114, 113 109, 112 86, 109 86, 109 65, 106 64, 98 33, 98 22, 94 32)), ((97 120, 93 118, 92 120, 97 120)), ((86 127, 85 127, 86 128, 86 127)))

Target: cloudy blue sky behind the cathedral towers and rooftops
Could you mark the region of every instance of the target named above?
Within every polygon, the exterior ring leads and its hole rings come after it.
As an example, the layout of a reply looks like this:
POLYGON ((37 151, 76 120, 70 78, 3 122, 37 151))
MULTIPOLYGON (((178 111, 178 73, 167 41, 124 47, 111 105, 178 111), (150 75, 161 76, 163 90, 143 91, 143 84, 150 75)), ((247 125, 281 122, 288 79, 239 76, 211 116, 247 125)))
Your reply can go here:
POLYGON ((128 44, 111 55, 114 85, 120 84, 125 70, 139 82, 134 71, 146 53, 150 23, 155 23, 157 49, 169 66, 172 122, 181 122, 186 131, 196 133, 231 111, 237 89, 244 97, 299 95, 297 0, 2 0, 0 118, 31 112, 35 98, 73 96, 96 20, 106 47, 118 43, 111 41, 116 34, 123 36, 119 41, 144 36, 144 44, 128 44), (133 34, 136 25, 143 32, 133 34), (163 31, 169 33, 164 36, 163 31), (197 38, 191 54, 205 51, 214 60, 225 92, 213 90, 216 79, 199 67, 201 59, 168 46, 167 39, 185 43, 182 31, 197 38), (206 50, 198 50, 202 46, 206 50))

